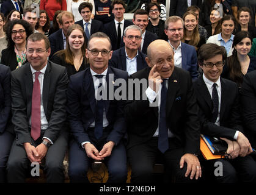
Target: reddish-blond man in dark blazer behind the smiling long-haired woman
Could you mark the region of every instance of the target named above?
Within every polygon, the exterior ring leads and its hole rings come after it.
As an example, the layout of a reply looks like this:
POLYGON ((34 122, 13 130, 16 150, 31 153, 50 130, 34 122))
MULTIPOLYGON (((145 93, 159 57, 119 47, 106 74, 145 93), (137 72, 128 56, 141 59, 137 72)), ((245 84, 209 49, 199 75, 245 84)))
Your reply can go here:
POLYGON ((68 27, 75 23, 74 15, 71 12, 62 12, 60 13, 59 23, 62 26, 62 29, 57 30, 54 34, 49 36, 49 43, 51 44, 51 54, 49 55, 49 59, 55 54, 57 51, 62 49, 66 49, 66 35, 68 31, 68 27))

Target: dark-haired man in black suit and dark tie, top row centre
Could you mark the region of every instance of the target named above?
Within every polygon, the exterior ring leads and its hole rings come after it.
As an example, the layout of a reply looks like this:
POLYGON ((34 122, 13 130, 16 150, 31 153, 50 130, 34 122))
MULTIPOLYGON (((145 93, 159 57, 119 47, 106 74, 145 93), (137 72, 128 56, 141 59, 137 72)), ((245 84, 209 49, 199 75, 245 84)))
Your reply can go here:
POLYGON ((123 13, 125 13, 125 2, 122 0, 115 0, 111 4, 112 13, 115 19, 107 24, 104 24, 103 32, 108 35, 111 40, 112 50, 115 51, 124 46, 123 43, 123 32, 127 26, 133 23, 129 20, 123 18, 123 13), (120 40, 118 40, 118 26, 120 23, 120 40))

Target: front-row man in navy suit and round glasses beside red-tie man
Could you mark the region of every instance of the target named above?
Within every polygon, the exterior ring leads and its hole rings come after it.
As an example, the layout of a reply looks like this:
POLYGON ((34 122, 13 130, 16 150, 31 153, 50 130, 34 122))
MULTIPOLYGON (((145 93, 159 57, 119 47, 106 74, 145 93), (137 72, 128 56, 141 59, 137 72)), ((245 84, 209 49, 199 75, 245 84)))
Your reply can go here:
POLYGON ((108 66, 111 56, 109 37, 102 32, 93 34, 86 49, 90 68, 70 77, 67 92, 68 121, 73 133, 68 158, 70 182, 88 182, 90 163, 102 160, 108 166, 109 183, 125 183, 127 179, 125 100, 117 100, 114 91, 115 81, 126 82, 128 73, 108 66))

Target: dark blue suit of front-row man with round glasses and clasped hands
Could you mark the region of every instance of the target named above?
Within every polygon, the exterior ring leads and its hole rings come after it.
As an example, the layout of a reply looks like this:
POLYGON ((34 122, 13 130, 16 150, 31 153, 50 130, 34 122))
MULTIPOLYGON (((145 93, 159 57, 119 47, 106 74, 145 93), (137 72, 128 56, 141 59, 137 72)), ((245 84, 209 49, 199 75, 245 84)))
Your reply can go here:
MULTIPOLYGON (((113 86, 114 81, 119 78, 127 81, 128 74, 125 71, 108 66, 108 73, 106 75, 107 87, 113 87, 115 91, 117 87, 113 86), (112 75, 114 75, 114 79, 112 75)), ((68 174, 70 181, 88 182, 86 176, 90 160, 92 159, 87 157, 86 152, 81 147, 81 143, 89 141, 98 151, 101 151, 104 144, 108 141, 114 141, 115 146, 112 149, 111 155, 105 158, 105 165, 108 166, 109 171, 108 182, 126 182, 126 150, 124 145, 125 139, 123 139, 126 135, 123 113, 125 101, 117 101, 115 97, 114 100, 109 100, 108 98, 105 103, 105 113, 109 125, 103 129, 103 136, 97 140, 94 137, 94 128, 89 127, 95 121, 97 104, 90 68, 70 77, 67 98, 68 121, 73 133, 69 149, 68 174)))

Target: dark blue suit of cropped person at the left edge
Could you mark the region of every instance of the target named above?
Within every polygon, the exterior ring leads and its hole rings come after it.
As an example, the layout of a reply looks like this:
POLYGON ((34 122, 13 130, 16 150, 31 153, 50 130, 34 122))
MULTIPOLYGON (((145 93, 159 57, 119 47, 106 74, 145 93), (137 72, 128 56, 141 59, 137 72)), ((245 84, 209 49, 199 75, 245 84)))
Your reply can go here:
POLYGON ((5 182, 5 165, 13 141, 10 109, 10 68, 0 65, 0 183, 5 182))

